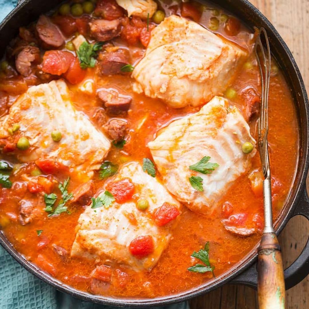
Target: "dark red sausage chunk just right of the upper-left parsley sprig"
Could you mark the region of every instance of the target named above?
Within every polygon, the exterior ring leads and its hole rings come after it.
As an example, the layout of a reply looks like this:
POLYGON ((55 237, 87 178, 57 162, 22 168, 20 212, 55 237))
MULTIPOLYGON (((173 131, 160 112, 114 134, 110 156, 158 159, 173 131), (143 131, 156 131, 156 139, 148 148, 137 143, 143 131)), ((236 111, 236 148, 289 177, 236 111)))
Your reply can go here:
POLYGON ((102 75, 121 74, 121 68, 129 64, 129 56, 124 51, 99 53, 99 70, 102 75))

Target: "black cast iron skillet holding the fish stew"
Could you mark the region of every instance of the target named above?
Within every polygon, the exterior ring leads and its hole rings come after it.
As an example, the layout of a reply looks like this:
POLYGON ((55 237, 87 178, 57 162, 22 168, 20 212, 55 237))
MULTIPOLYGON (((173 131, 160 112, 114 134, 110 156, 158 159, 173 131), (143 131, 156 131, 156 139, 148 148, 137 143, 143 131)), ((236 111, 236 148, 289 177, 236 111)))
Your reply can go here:
MULTIPOLYGON (((17 36, 18 28, 20 26, 27 25, 28 23, 34 21, 41 13, 49 11, 59 2, 61 1, 19 0, 16 8, 0 24, 1 53, 4 52, 9 41, 17 36)), ((295 215, 301 214, 309 220, 309 198, 306 190, 306 176, 309 164, 309 106, 306 89, 290 50, 273 25, 265 18, 264 15, 260 13, 260 11, 252 6, 252 4, 250 4, 247 0, 217 0, 216 4, 238 16, 240 20, 249 26, 249 28, 264 27, 266 29, 269 35, 269 42, 271 44, 273 56, 277 59, 279 66, 285 73, 286 80, 289 83, 291 91, 294 95, 294 104, 297 109, 299 122, 299 160, 294 186, 290 192, 282 214, 275 224, 277 234, 279 234, 289 219, 295 215)), ((11 243, 9 243, 2 232, 0 233, 0 243, 3 248, 5 248, 6 251, 15 258, 15 260, 23 265, 23 267, 25 267, 30 273, 36 275, 36 277, 46 283, 49 283, 59 291, 66 292, 72 296, 94 303, 125 307, 167 305, 207 293, 227 282, 244 284, 253 288, 256 288, 257 284, 255 264, 257 254, 255 248, 228 273, 214 278, 211 282, 208 282, 204 286, 199 286, 195 289, 185 291, 177 295, 154 299, 120 299, 103 297, 75 290, 72 287, 54 279, 53 277, 50 277, 47 273, 41 271, 35 265, 32 265, 30 262, 25 260, 24 257, 12 247, 11 243)), ((309 273, 309 241, 307 241, 303 252, 297 260, 289 268, 287 268, 284 273, 286 279, 286 289, 290 289, 307 276, 309 273)))

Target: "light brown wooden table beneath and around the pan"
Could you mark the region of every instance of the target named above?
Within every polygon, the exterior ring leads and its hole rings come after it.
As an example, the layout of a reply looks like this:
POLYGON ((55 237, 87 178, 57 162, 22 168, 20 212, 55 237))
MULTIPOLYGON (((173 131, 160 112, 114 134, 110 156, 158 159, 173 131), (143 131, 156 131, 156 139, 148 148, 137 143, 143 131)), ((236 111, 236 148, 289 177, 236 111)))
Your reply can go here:
MULTIPOLYGON (((309 0, 251 0, 269 20, 293 53, 309 90, 309 0)), ((307 187, 308 179, 307 179, 307 187)), ((284 267, 302 251, 309 235, 309 223, 297 216, 290 220, 280 235, 284 267)), ((255 309, 257 295, 244 286, 226 285, 205 296, 194 298, 191 309, 255 309)), ((286 291, 286 308, 309 308, 309 276, 286 291)))

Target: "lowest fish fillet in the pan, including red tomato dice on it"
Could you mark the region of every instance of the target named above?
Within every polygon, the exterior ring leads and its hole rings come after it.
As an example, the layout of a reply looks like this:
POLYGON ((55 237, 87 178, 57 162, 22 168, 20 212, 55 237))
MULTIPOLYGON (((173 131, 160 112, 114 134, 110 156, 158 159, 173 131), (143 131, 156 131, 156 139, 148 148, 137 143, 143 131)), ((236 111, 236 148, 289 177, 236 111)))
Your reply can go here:
POLYGON ((78 220, 71 256, 100 258, 103 262, 112 260, 135 270, 151 269, 171 238, 180 214, 180 203, 137 162, 125 164, 114 178, 104 184, 95 198, 102 197, 106 190, 114 193, 116 200, 108 208, 92 208, 93 203, 87 206, 78 220), (119 186, 120 182, 124 183, 123 187, 119 186), (119 192, 124 195, 119 196, 119 192), (148 201, 146 210, 138 209, 140 200, 148 201), (173 209, 173 218, 169 215, 164 221, 163 205, 173 209), (159 210, 161 216, 158 215, 159 210), (138 248, 132 249, 132 244, 140 237, 148 241, 145 246, 150 241, 153 248, 142 248, 146 250, 143 252, 136 251, 138 248))

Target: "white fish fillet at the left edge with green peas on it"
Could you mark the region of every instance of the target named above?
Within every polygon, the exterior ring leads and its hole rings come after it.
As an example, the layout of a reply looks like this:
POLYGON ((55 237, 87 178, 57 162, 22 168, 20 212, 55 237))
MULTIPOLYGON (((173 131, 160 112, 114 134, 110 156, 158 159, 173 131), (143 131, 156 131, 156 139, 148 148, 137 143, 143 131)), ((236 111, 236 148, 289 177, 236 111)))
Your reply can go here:
POLYGON ((63 80, 33 86, 11 106, 9 114, 0 119, 0 138, 9 137, 8 129, 19 123, 18 133, 28 138, 30 148, 17 151, 22 162, 52 159, 76 171, 96 168, 108 154, 110 141, 97 130, 88 117, 76 111, 63 80), (51 133, 62 133, 54 142, 51 133))

